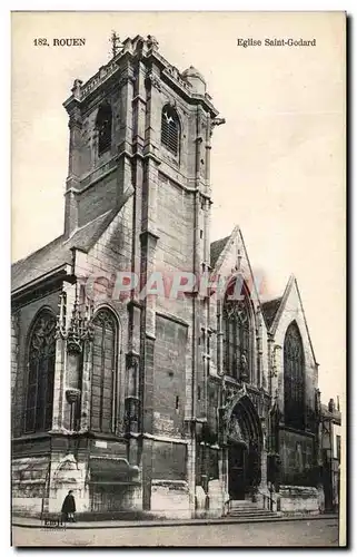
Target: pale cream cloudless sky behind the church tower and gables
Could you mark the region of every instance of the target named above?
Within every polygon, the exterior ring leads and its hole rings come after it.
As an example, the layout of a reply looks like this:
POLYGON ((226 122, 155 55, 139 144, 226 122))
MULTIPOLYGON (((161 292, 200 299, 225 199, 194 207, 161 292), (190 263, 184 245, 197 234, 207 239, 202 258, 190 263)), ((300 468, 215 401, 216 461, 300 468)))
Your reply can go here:
POLYGON ((266 297, 297 277, 323 400, 345 395, 345 35, 333 12, 12 14, 12 260, 63 229, 68 117, 62 102, 110 59, 109 37, 153 35, 195 66, 226 119, 211 150, 211 241, 241 228, 266 297), (39 47, 36 38, 85 38, 39 47), (316 39, 238 47, 237 39, 316 39))

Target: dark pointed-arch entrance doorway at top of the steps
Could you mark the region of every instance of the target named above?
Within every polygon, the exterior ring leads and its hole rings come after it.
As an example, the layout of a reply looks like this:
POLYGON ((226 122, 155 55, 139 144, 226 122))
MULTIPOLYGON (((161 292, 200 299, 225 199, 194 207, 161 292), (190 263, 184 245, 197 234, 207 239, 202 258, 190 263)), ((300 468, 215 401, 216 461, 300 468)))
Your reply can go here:
POLYGON ((229 498, 245 499, 260 483, 262 448, 259 416, 248 395, 231 411, 227 441, 229 498))

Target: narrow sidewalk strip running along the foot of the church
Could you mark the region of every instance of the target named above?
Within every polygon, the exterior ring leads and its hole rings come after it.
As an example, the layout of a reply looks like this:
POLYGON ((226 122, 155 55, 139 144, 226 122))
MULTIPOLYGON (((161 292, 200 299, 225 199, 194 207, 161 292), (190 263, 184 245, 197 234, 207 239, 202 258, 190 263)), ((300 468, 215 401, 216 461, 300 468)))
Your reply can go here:
POLYGON ((251 524, 251 522, 281 522, 292 520, 321 520, 321 519, 338 519, 336 514, 326 515, 299 515, 299 516, 271 516, 264 518, 246 518, 246 517, 222 517, 222 518, 192 518, 184 520, 98 520, 98 521, 79 521, 67 522, 65 526, 44 526, 44 521, 40 518, 30 517, 12 517, 12 526, 22 528, 41 528, 41 529, 92 529, 92 528, 142 528, 142 527, 166 527, 166 526, 202 526, 210 524, 251 524))

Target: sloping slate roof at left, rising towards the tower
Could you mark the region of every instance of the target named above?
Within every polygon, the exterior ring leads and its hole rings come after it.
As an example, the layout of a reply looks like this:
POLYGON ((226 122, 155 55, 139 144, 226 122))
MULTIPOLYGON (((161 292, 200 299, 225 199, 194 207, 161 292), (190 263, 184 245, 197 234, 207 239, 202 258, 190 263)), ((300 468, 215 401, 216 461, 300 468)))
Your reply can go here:
POLYGON ((62 234, 37 252, 16 262, 11 267, 11 291, 40 278, 59 266, 70 264, 72 247, 88 252, 109 226, 118 211, 119 207, 110 209, 75 231, 69 238, 66 240, 65 234, 62 234))

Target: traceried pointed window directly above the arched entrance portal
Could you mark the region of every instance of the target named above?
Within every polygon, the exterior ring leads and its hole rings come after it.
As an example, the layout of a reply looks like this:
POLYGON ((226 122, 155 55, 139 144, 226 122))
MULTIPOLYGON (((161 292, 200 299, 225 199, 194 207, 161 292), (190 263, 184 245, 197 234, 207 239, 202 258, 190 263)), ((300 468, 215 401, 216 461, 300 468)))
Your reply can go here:
POLYGON ((251 369, 249 292, 244 285, 238 300, 229 300, 231 290, 224 303, 224 369, 228 375, 248 381, 251 369))

